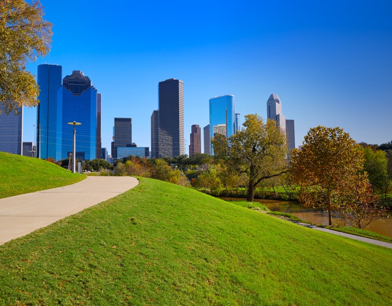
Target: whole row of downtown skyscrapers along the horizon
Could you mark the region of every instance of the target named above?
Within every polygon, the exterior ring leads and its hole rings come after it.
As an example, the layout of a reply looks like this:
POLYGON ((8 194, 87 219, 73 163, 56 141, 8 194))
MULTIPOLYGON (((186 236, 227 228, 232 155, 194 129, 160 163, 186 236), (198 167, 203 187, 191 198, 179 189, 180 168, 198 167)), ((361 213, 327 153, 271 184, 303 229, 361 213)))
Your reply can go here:
MULTIPOLYGON (((101 145, 102 95, 97 92, 89 77, 74 70, 62 79, 62 66, 38 66, 37 83, 40 86, 40 104, 37 108, 36 139, 22 142, 23 109, 17 113, 0 115, 0 151, 18 155, 66 159, 72 152, 72 126, 77 127, 76 159, 102 158, 113 163, 128 156, 173 158, 185 154, 184 137, 184 83, 168 79, 158 84, 158 109, 151 115, 151 151, 132 142, 132 118, 114 118, 111 156, 101 145)), ((276 121, 288 139, 288 148, 295 147, 294 120, 282 113, 282 102, 277 94, 267 100, 267 119, 276 121)), ((229 138, 241 129, 240 114, 235 112, 234 95, 209 99, 209 122, 203 129, 192 124, 189 156, 202 152, 213 155, 211 138, 221 134, 229 138), (203 131, 203 137, 202 137, 203 131), (202 142, 203 139, 203 142, 202 142)))

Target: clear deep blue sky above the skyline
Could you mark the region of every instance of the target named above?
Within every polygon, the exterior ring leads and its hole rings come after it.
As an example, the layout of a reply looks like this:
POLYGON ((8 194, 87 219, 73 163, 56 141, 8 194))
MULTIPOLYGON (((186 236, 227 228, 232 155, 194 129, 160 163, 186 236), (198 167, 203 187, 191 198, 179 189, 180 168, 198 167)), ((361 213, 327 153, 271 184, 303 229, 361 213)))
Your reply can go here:
MULTIPOLYGON (((236 112, 266 118, 271 93, 295 120, 296 146, 313 126, 340 126, 357 142, 392 140, 392 1, 41 0, 51 52, 28 65, 82 70, 102 93, 102 147, 114 117, 151 146, 158 82, 184 82, 185 140, 208 124, 208 100, 233 94, 236 112)), ((36 108, 24 109, 34 141, 36 108)), ((186 148, 188 153, 188 148, 186 148)))

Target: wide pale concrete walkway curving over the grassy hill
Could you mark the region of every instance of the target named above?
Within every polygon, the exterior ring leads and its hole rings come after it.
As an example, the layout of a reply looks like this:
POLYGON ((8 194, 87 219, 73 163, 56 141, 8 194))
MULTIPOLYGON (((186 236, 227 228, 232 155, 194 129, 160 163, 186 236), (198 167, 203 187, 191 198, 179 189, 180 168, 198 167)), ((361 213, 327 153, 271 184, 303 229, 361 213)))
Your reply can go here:
POLYGON ((88 176, 73 185, 0 199, 0 245, 115 197, 138 183, 131 176, 88 176))

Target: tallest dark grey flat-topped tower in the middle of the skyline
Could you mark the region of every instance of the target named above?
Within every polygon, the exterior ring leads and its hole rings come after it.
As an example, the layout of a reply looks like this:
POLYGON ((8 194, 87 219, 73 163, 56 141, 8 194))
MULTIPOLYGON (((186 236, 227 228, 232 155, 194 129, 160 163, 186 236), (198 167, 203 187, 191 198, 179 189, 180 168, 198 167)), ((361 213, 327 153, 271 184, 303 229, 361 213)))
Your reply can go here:
POLYGON ((185 154, 184 83, 169 79, 159 82, 159 157, 185 154))

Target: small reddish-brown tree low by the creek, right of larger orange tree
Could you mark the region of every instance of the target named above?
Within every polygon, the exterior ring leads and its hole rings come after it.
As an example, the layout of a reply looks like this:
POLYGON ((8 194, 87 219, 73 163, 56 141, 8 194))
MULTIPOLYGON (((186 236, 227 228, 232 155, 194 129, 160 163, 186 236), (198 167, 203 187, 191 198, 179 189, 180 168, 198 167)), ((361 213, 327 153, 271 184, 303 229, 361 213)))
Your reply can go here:
POLYGON ((378 196, 374 194, 367 174, 353 176, 350 190, 343 193, 338 208, 339 216, 350 226, 360 229, 372 221, 386 216, 385 208, 380 206, 378 196))

